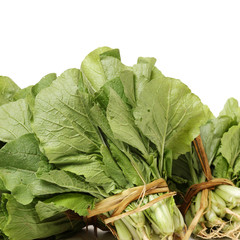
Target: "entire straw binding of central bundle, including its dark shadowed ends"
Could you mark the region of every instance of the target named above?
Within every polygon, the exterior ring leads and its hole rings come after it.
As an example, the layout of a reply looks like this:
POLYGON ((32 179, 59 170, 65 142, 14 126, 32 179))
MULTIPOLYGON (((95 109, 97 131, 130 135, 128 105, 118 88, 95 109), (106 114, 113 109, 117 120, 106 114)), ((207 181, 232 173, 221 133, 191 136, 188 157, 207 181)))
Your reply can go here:
MULTIPOLYGON (((119 240, 119 236, 116 230, 112 227, 114 221, 124 218, 133 213, 144 211, 151 207, 153 204, 175 195, 176 192, 169 192, 169 188, 166 181, 163 178, 159 178, 149 184, 126 189, 119 194, 113 195, 100 201, 95 205, 93 209, 88 209, 88 215, 86 217, 79 216, 78 214, 74 213, 71 210, 66 211, 65 214, 68 216, 70 220, 85 221, 87 227, 88 225, 92 224, 94 226, 95 232, 96 227, 99 227, 96 221, 96 216, 98 216, 98 218, 103 223, 105 223, 106 227, 110 230, 113 236, 119 240), (139 204, 139 206, 136 209, 122 213, 131 202, 154 193, 164 194, 153 199, 152 201, 148 202, 143 206, 139 204), (103 213, 109 211, 113 211, 112 215, 109 218, 103 215, 103 213)), ((106 229, 102 230, 106 231, 106 229)))

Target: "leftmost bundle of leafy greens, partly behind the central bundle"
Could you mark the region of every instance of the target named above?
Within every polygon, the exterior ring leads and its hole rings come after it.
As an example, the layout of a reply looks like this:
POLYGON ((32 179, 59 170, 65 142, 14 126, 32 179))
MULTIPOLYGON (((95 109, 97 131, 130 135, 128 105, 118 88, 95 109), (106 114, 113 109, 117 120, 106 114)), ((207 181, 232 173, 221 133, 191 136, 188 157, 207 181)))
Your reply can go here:
POLYGON ((66 208, 45 202, 47 197, 71 189, 37 177, 39 169, 52 166, 31 128, 30 99, 55 79, 55 74, 49 74, 35 86, 21 90, 10 78, 0 77, 0 239, 53 235, 57 239, 85 226, 83 221, 70 222, 66 208))

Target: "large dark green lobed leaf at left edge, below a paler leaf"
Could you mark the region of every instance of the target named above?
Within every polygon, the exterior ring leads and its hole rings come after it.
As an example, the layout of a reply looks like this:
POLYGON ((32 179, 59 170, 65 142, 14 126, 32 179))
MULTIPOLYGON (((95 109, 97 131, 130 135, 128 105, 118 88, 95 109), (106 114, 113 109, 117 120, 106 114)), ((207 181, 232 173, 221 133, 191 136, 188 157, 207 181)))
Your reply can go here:
POLYGON ((34 196, 69 191, 37 179, 36 172, 44 164, 47 160, 33 134, 11 141, 0 150, 0 178, 6 189, 22 204, 31 203, 34 196))

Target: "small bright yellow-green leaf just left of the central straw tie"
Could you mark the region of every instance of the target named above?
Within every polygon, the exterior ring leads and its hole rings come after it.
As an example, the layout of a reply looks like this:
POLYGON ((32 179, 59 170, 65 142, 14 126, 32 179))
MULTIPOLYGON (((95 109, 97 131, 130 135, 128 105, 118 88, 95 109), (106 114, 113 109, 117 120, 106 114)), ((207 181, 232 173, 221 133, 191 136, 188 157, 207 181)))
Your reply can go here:
POLYGON ((71 209, 80 216, 87 216, 88 209, 95 205, 95 198, 87 194, 66 193, 50 198, 45 203, 54 203, 56 206, 71 209))

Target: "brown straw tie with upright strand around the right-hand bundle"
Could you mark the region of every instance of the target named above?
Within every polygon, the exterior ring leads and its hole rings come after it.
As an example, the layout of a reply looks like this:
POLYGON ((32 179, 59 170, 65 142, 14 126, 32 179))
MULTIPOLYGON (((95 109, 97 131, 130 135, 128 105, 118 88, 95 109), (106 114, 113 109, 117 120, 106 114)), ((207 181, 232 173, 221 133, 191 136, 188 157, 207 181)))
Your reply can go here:
POLYGON ((200 208, 197 211, 195 217, 193 218, 190 226, 188 227, 188 230, 184 236, 184 240, 188 240, 189 237, 191 236, 194 228, 199 222, 199 219, 202 217, 204 214, 205 209, 208 207, 208 192, 209 189, 213 190, 216 186, 218 185, 232 185, 232 181, 225 179, 225 178, 214 178, 212 177, 211 169, 209 166, 208 158, 206 155, 206 152, 204 150, 204 146, 202 143, 201 136, 199 135, 197 138, 194 139, 193 141, 194 148, 197 152, 198 159, 201 163, 203 172, 206 176, 207 181, 198 183, 198 184, 193 184, 187 191, 185 197, 184 197, 184 203, 181 205, 180 210, 183 215, 187 213, 188 208, 191 205, 192 198, 197 195, 200 191, 202 191, 202 196, 201 196, 201 203, 200 203, 200 208))

